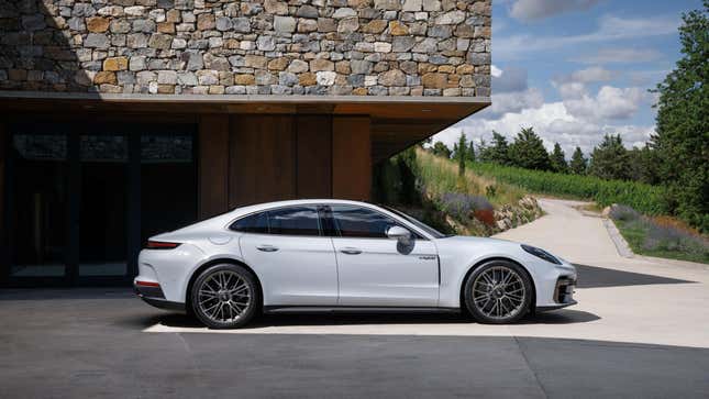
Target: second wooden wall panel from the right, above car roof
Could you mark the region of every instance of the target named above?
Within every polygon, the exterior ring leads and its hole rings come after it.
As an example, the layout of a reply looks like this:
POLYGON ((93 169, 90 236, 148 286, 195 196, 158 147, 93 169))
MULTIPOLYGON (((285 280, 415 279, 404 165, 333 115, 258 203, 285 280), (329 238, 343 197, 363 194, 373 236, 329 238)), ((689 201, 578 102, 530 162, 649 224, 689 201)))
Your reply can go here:
POLYGON ((298 198, 332 197, 332 117, 299 115, 298 198))

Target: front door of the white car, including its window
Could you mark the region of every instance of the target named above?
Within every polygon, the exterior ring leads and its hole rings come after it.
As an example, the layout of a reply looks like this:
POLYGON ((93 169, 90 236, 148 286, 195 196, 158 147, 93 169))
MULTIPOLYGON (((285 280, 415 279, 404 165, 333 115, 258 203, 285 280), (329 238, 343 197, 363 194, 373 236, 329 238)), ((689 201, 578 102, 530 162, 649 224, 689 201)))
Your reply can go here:
POLYGON ((341 306, 435 307, 439 259, 435 244, 377 210, 332 204, 341 306), (390 226, 412 232, 402 247, 387 237, 390 226))

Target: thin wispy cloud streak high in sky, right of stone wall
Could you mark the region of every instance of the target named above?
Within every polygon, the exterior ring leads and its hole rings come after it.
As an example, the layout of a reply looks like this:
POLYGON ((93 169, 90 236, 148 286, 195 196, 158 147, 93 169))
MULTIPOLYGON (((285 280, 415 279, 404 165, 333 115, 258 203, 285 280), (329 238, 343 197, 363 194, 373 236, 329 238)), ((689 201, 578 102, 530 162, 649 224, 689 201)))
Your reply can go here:
POLYGON ((554 36, 524 34, 498 37, 492 44, 492 53, 496 59, 516 59, 529 53, 543 53, 568 46, 675 34, 678 25, 679 20, 676 15, 645 19, 606 15, 599 20, 596 31, 586 34, 554 36))

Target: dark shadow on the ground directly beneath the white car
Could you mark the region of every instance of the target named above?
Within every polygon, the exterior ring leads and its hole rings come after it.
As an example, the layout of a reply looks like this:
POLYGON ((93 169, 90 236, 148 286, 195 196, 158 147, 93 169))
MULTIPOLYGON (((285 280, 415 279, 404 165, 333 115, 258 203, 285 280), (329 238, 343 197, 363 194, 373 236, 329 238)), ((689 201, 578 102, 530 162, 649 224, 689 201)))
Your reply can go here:
MULTIPOLYGON (((529 314, 518 324, 573 324, 586 323, 600 318, 594 313, 563 309, 551 312, 529 314)), ((459 312, 345 312, 319 311, 299 313, 263 314, 243 329, 267 326, 313 326, 313 325, 364 325, 364 324, 470 324, 475 323, 459 312)), ((169 328, 203 329, 197 319, 181 313, 160 314, 149 319, 136 320, 135 325, 148 328, 162 324, 169 328)))

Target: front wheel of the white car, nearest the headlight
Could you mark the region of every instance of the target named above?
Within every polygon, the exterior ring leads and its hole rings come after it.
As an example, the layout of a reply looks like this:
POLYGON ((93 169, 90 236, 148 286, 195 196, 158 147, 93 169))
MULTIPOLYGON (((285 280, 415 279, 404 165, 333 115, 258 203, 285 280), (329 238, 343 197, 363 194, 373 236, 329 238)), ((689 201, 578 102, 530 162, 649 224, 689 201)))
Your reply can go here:
MULTIPOLYGON (((497 281, 495 277, 494 281, 500 282, 497 281)), ((463 289, 465 310, 467 310, 468 314, 477 322, 485 324, 514 323, 530 311, 533 297, 532 282, 530 281, 527 271, 519 265, 508 261, 490 261, 478 266, 473 270, 473 273, 470 273, 463 286, 463 289), (488 279, 490 278, 490 275, 495 276, 499 273, 498 276, 500 276, 500 278, 508 276, 502 270, 509 274, 509 278, 514 278, 514 284, 491 285, 486 282, 489 281, 488 279), (475 298, 474 287, 476 289, 475 298), (520 289, 522 289, 522 291, 520 291, 520 289), (488 290, 487 297, 484 292, 485 290, 488 290), (517 296, 520 292, 523 295, 518 299, 517 296), (505 311, 508 308, 510 311, 505 311)))

